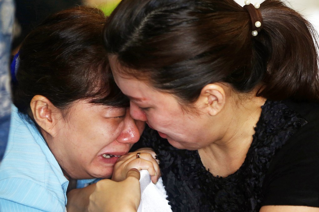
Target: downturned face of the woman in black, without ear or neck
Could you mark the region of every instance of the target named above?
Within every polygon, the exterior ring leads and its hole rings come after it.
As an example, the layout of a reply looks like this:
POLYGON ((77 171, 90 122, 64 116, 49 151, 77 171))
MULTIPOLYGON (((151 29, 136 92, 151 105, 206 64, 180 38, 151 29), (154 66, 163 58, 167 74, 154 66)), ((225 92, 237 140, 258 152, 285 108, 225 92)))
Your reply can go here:
POLYGON ((146 121, 176 148, 195 150, 209 145, 209 133, 203 133, 211 128, 206 114, 185 112, 173 95, 155 90, 145 81, 123 76, 119 73, 123 67, 116 58, 111 56, 109 61, 116 84, 130 99, 134 119, 146 121))

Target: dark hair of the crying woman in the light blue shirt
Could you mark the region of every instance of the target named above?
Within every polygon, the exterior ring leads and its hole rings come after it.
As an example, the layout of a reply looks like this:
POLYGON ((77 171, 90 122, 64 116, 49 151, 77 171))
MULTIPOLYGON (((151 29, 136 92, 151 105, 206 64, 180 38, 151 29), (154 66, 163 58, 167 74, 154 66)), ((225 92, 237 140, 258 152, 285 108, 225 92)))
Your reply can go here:
POLYGON ((29 114, 30 101, 43 95, 66 109, 71 103, 126 107, 128 99, 115 85, 103 48, 102 11, 85 6, 63 10, 46 18, 25 38, 19 51, 13 102, 29 114))

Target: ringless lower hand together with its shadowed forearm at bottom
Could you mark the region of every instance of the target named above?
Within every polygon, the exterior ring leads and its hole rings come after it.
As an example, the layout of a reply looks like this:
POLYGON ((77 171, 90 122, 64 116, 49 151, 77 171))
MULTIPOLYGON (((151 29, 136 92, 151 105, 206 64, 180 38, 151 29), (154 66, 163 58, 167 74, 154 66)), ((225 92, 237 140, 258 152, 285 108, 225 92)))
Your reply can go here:
POLYGON ((100 180, 85 188, 71 190, 67 194, 67 211, 136 212, 141 198, 140 173, 132 168, 124 178, 120 182, 100 180), (110 191, 112 195, 109 195, 110 191))

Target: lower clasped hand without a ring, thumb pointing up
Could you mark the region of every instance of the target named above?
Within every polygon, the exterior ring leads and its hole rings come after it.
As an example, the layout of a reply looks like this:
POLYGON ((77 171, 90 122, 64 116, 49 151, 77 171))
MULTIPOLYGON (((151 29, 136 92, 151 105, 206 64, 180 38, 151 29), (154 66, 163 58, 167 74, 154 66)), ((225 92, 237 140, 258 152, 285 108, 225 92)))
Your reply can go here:
POLYGON ((120 182, 100 180, 90 195, 88 211, 136 212, 141 199, 140 173, 133 168, 120 182))

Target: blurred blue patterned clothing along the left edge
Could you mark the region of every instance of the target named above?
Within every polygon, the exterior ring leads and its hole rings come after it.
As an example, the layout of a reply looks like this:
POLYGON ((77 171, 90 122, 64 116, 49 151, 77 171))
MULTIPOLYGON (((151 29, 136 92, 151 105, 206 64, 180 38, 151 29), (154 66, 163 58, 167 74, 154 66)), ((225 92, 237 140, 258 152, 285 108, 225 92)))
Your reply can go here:
POLYGON ((14 12, 13 0, 0 0, 0 161, 7 144, 10 125, 9 58, 14 12))

